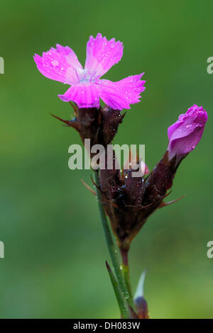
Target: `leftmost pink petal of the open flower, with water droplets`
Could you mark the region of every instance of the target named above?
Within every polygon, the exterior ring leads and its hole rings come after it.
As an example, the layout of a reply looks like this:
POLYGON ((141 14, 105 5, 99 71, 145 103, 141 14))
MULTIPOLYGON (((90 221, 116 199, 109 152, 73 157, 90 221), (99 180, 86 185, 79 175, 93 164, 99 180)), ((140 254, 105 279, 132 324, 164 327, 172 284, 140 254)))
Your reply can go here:
POLYGON ((38 70, 48 79, 73 84, 79 81, 78 73, 82 65, 77 60, 75 52, 68 46, 56 45, 48 52, 43 52, 42 57, 35 55, 34 60, 38 70))

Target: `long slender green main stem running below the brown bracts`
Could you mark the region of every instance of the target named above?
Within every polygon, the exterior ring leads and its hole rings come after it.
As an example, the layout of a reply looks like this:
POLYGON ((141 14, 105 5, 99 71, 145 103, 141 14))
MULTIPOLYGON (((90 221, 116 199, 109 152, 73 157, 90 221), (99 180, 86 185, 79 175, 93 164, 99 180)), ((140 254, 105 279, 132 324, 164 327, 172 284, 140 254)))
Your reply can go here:
MULTIPOLYGON (((123 276, 123 273, 122 273, 122 266, 119 263, 118 252, 116 250, 113 239, 111 237, 111 232, 109 230, 107 217, 105 215, 104 207, 102 205, 101 193, 99 191, 99 174, 98 174, 98 171, 94 171, 94 176, 95 176, 95 183, 97 185, 97 199, 98 199, 98 205, 99 205, 99 212, 100 212, 100 216, 101 216, 101 220, 102 220, 102 227, 103 227, 103 230, 104 230, 105 239, 107 241, 107 247, 108 247, 108 250, 109 250, 111 261, 112 261, 112 264, 114 266, 114 271, 116 273, 116 278, 118 280, 119 286, 120 286, 122 292, 124 293, 124 298, 125 298, 126 302, 129 305, 131 305, 130 304, 129 291, 126 288, 126 283, 124 281, 124 276, 123 276)), ((128 309, 127 305, 126 305, 126 311, 129 314, 129 309, 128 309)), ((129 318, 129 315, 127 315, 126 318, 129 318)))

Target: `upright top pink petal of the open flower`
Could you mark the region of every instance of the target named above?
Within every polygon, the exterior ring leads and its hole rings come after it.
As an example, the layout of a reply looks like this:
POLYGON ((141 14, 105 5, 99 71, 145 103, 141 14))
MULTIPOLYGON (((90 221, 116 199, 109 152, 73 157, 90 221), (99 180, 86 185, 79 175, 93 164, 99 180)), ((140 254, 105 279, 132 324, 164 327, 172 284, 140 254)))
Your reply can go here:
POLYGON ((90 36, 84 68, 95 74, 97 78, 102 77, 121 60, 123 49, 123 44, 119 41, 115 42, 114 38, 108 41, 106 37, 102 37, 101 33, 98 33, 96 38, 90 36))

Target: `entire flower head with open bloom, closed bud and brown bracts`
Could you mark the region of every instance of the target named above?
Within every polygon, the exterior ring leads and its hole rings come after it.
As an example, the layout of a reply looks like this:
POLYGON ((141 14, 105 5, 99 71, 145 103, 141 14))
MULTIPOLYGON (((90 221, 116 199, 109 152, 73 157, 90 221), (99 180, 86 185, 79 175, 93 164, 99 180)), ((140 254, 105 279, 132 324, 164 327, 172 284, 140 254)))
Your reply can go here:
MULTIPOLYGON (((67 46, 56 45, 56 48, 52 47, 48 52, 43 52, 42 57, 34 57, 38 70, 45 77, 70 85, 65 94, 58 96, 62 101, 77 104, 74 106, 75 118, 55 118, 75 128, 80 133, 82 142, 90 139, 92 145, 107 147, 124 119, 125 113, 121 114, 121 111, 140 101, 146 82, 141 80, 143 73, 116 82, 100 79, 121 60, 122 55, 121 42, 116 42, 114 38, 107 40, 99 33, 96 38, 89 38, 84 68, 75 52, 67 46), (100 98, 106 103, 104 107, 100 106, 100 98)), ((136 171, 136 164, 138 169, 141 168, 141 161, 137 158, 130 169, 124 166, 122 170, 114 167, 99 171, 98 197, 109 216, 125 267, 128 266, 127 253, 132 239, 141 230, 149 215, 168 204, 163 201, 173 185, 178 166, 200 142, 207 118, 207 112, 197 105, 181 114, 168 128, 168 148, 163 158, 151 172, 146 166, 143 176, 132 176, 133 171, 136 171)), ((115 153, 113 157, 116 164, 115 153)), ((107 164, 107 154, 105 163, 107 164)), ((111 273, 109 266, 108 271, 111 273)), ((119 271, 120 268, 118 273, 119 271)), ((112 275, 111 279, 113 281, 112 275)), ((146 301, 141 295, 137 295, 135 307, 136 313, 129 305, 133 317, 148 317, 146 301)))

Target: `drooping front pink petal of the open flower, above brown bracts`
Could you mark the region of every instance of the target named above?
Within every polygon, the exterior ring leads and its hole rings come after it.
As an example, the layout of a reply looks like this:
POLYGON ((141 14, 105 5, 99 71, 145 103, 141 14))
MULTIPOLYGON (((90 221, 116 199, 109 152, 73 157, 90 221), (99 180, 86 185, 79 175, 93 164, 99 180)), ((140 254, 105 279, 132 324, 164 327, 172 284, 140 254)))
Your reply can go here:
POLYGON ((77 103, 79 108, 99 108, 99 91, 95 84, 75 84, 58 97, 65 102, 77 103))

